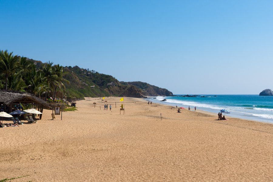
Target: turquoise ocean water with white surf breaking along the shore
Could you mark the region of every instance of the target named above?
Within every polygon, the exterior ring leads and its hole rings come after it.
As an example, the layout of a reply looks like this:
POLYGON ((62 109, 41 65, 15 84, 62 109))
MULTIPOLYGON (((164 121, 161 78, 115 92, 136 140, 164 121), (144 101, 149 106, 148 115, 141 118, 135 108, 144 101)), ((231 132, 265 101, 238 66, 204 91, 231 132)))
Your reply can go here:
POLYGON ((198 95, 197 97, 177 96, 155 96, 149 97, 147 101, 154 103, 167 104, 170 106, 184 107, 215 113, 215 117, 221 109, 227 109, 231 113, 225 114, 226 117, 232 116, 247 120, 263 121, 273 123, 273 96, 259 95, 198 95), (201 97, 204 96, 204 97, 201 97), (154 99, 155 98, 155 99, 154 99), (160 101, 167 99, 166 101, 160 101))

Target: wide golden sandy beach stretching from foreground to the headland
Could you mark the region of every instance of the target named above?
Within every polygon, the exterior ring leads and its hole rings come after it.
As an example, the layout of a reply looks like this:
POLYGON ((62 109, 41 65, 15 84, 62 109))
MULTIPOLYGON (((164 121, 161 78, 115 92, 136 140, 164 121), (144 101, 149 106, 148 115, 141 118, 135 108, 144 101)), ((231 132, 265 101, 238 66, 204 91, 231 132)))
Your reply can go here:
POLYGON ((119 99, 107 98, 111 111, 86 98, 62 120, 44 110, 37 123, 0 128, 0 180, 273 181, 272 124, 129 97, 123 115, 119 99))

